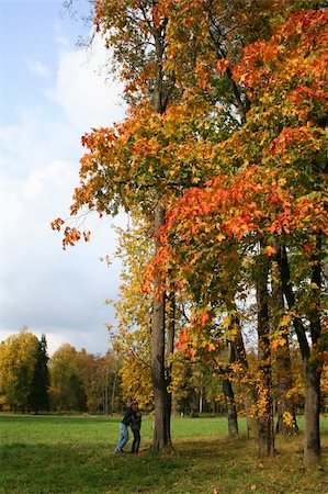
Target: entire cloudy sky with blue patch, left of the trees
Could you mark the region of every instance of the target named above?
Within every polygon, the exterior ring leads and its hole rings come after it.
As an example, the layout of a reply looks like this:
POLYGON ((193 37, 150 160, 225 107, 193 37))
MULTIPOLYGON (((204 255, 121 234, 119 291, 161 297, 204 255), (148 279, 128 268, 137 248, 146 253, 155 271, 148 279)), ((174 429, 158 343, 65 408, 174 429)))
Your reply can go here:
POLYGON ((89 217, 91 243, 66 251, 49 226, 68 214, 81 135, 124 119, 101 40, 77 46, 89 29, 61 0, 0 0, 0 340, 27 326, 50 355, 64 343, 103 355, 114 324, 120 261, 101 261, 113 220, 89 217))

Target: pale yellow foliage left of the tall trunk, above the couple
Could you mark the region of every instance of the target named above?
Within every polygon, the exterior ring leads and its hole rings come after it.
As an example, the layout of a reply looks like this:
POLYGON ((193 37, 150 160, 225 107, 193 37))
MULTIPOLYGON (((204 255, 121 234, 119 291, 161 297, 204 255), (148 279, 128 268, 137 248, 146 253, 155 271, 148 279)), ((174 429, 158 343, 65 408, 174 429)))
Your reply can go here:
POLYGON ((151 224, 135 211, 127 229, 116 228, 122 260, 118 297, 109 301, 115 308, 117 328, 109 325, 110 344, 122 358, 120 371, 125 403, 136 400, 139 407, 151 406, 150 373, 152 299, 143 293, 145 266, 152 259, 151 224), (150 240, 150 243, 149 243, 150 240))

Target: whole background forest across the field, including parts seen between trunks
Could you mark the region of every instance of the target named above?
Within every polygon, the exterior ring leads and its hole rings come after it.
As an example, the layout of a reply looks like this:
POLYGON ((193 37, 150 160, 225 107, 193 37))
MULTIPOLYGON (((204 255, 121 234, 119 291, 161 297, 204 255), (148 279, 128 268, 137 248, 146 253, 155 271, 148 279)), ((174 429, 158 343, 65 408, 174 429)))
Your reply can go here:
MULTIPOLYGON (((224 353, 224 352, 223 352, 224 353)), ((256 373, 256 353, 250 352, 251 369, 256 373)), ((223 355, 223 358, 225 356, 223 355)), ((132 353, 109 350, 104 357, 77 351, 71 345, 61 345, 49 358, 46 336, 41 340, 27 328, 12 335, 0 345, 0 409, 2 412, 88 413, 113 415, 122 413, 129 400, 137 398, 144 413, 152 415, 152 393, 149 366, 138 361, 135 372, 132 353)), ((304 413, 304 383, 302 362, 294 350, 291 353, 294 386, 289 397, 295 412, 304 413)), ((280 396, 279 369, 274 372, 274 402, 280 396)), ((173 414, 183 416, 227 415, 225 377, 212 363, 190 362, 177 351, 172 401, 173 414)), ((245 416, 242 388, 235 381, 237 412, 245 416)), ((321 413, 328 408, 328 369, 323 373, 321 413)), ((279 426, 278 426, 279 427, 279 426)), ((293 431, 293 427, 291 428, 293 431)), ((296 429, 294 430, 294 433, 296 429)))

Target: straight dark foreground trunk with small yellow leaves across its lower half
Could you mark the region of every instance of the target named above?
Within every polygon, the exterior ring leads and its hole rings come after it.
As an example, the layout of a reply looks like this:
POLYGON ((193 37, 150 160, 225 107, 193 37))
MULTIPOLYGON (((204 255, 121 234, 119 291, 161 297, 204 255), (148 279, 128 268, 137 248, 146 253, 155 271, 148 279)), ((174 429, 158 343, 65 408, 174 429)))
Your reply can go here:
POLYGON ((258 282, 257 282, 257 305, 258 305, 258 338, 259 338, 259 456, 270 457, 274 453, 274 430, 273 430, 273 400, 272 400, 272 370, 271 370, 271 348, 270 348, 270 321, 269 321, 269 292, 268 277, 270 259, 261 256, 258 282))

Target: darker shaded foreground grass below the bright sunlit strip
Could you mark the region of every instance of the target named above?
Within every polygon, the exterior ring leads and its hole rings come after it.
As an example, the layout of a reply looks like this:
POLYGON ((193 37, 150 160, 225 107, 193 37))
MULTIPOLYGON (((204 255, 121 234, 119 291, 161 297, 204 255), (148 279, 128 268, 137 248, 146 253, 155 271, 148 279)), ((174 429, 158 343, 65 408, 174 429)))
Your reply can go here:
MULTIPOLYGON (((327 436, 325 437, 325 454, 327 436)), ((245 437, 179 440, 171 452, 115 454, 113 445, 24 444, 1 450, 1 494, 134 493, 323 493, 324 475, 307 478, 302 469, 302 437, 287 440, 276 458, 259 460, 257 441, 245 437), (308 480, 309 479, 309 480, 308 480), (304 489, 301 486, 304 484, 304 489), (295 491, 295 486, 298 486, 295 491), (219 489, 218 489, 219 487, 219 489)))

